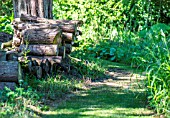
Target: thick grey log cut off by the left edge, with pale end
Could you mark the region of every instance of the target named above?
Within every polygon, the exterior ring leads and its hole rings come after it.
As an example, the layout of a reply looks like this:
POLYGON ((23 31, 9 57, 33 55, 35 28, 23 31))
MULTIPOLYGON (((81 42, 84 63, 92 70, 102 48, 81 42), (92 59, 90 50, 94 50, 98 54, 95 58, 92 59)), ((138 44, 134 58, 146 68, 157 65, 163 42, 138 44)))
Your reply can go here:
POLYGON ((18 61, 1 61, 0 82, 18 82, 22 78, 18 61))

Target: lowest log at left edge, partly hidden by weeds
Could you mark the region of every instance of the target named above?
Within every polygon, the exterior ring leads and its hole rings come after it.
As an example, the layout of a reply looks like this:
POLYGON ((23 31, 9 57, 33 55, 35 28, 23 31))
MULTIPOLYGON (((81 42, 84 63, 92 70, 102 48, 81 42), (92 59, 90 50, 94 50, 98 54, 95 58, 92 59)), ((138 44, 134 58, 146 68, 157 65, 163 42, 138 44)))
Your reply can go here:
POLYGON ((15 90, 16 83, 15 82, 0 82, 0 90, 4 90, 5 87, 10 88, 11 90, 15 90))

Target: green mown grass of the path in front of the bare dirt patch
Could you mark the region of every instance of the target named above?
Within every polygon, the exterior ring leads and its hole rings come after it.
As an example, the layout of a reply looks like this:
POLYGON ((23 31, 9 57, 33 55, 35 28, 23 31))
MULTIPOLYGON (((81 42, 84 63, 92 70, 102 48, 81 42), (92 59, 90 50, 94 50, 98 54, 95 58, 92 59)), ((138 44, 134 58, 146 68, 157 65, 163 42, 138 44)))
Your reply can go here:
POLYGON ((145 92, 133 92, 111 86, 96 86, 83 91, 63 102, 44 118, 82 118, 82 117, 149 117, 145 92))

